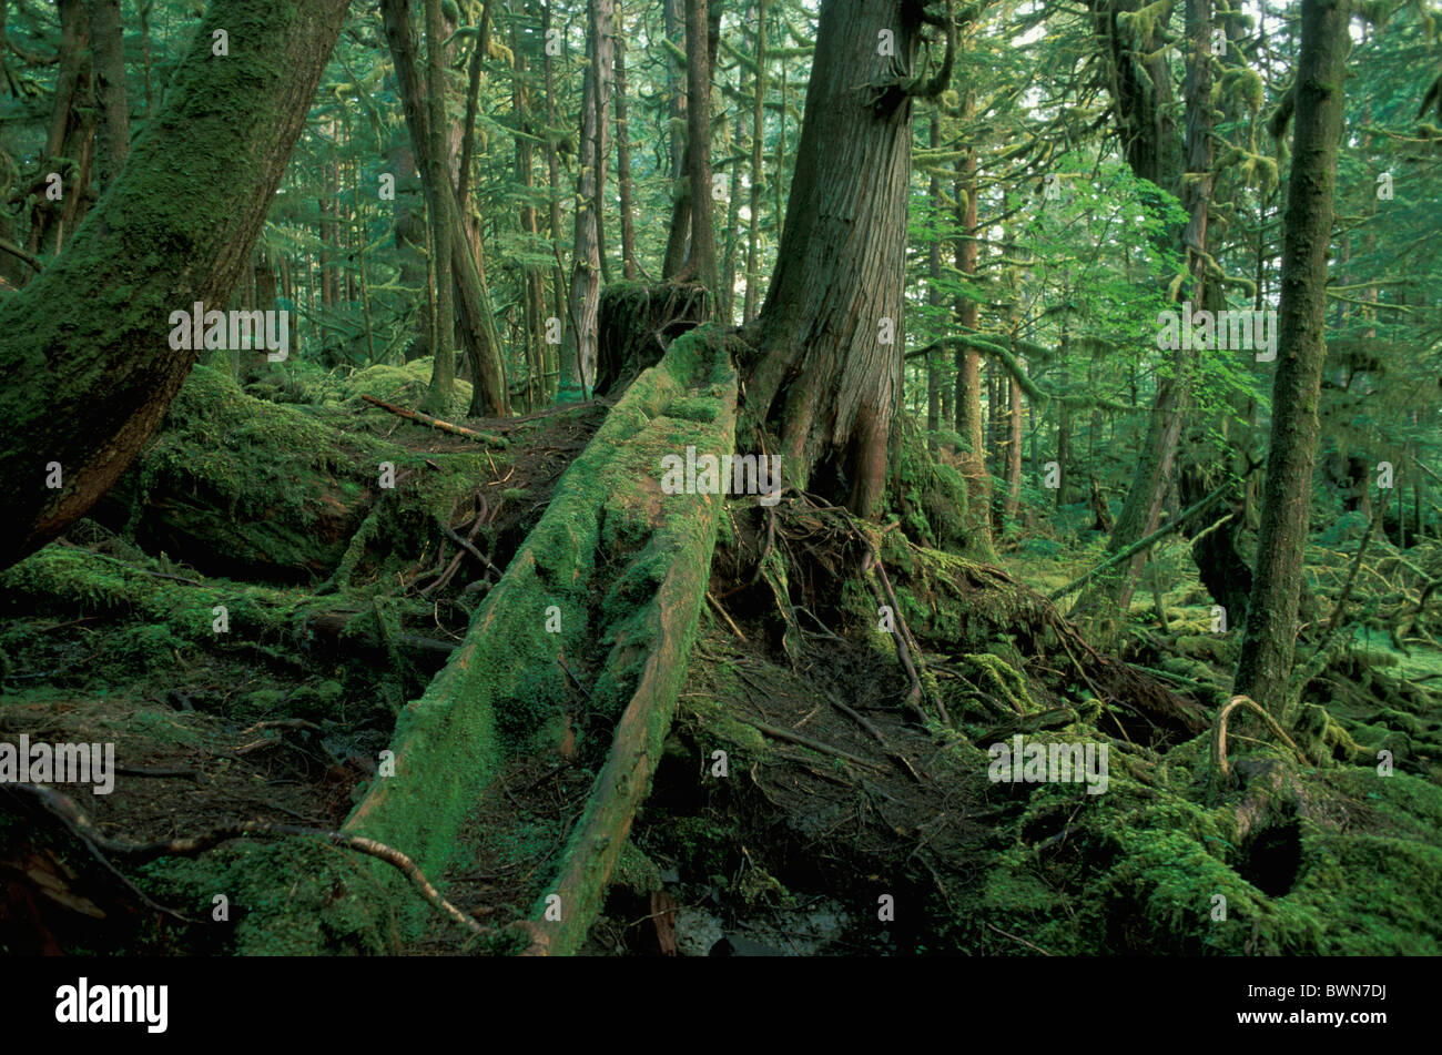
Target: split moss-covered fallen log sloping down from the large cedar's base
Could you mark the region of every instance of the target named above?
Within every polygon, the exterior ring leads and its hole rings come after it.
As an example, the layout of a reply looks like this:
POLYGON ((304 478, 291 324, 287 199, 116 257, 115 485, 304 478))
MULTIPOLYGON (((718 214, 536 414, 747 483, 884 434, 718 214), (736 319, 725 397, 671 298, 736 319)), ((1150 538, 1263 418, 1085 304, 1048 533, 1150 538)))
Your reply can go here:
MULTIPOLYGON (((394 775, 378 778, 345 826, 441 875, 461 822, 506 760, 555 751, 572 726, 614 726, 558 866, 561 901, 542 898, 531 924, 545 951, 572 951, 600 905, 659 760, 704 604, 721 497, 665 494, 662 457, 688 447, 731 453, 735 392, 725 340, 712 330, 676 340, 642 373, 557 484, 466 641, 407 706, 394 775)), ((371 875, 373 885, 329 871, 304 876, 284 911, 242 924, 241 951, 294 950, 297 905, 313 901, 320 912, 336 889, 368 920, 368 947, 389 937, 392 904, 408 924, 424 918, 394 876, 371 875)), ((307 924, 306 934, 324 945, 324 928, 307 924)))

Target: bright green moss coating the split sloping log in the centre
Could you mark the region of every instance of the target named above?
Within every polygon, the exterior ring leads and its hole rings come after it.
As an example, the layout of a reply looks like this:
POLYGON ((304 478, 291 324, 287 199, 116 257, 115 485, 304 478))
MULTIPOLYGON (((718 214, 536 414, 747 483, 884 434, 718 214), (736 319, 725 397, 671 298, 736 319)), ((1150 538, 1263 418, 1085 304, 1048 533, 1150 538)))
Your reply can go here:
MULTIPOLYGON (((694 399, 696 389, 715 391, 734 405, 735 391, 734 372, 714 337, 696 331, 671 347, 673 355, 632 385, 559 480, 464 643, 402 711, 392 741, 395 774, 378 778, 348 822, 348 830, 407 852, 427 875, 441 875, 456 852, 474 790, 486 787, 505 760, 549 749, 544 731, 577 709, 577 689, 562 663, 577 676, 597 669, 587 706, 598 718, 613 718, 636 690, 650 653, 663 646, 673 660, 656 672, 660 698, 646 731, 650 757, 660 757, 705 589, 720 500, 678 496, 658 525, 659 461, 678 444, 728 450, 733 442, 730 414, 695 422, 669 409, 678 399, 694 399), (597 581, 601 561, 607 577, 597 581), (603 584, 606 592, 597 595, 603 584), (679 621, 678 604, 689 605, 679 621), (679 640, 662 640, 662 605, 668 628, 679 626, 679 640), (552 633, 557 624, 549 617, 557 614, 559 627, 552 633)), ((590 852, 572 836, 559 868, 590 852)), ((619 852, 620 846, 610 847, 601 860, 614 860, 619 852)), ((571 920, 588 918, 598 907, 609 871, 600 866, 578 895, 583 904, 568 907, 571 920)), ((395 878, 381 882, 405 905, 402 927, 415 928, 430 909, 395 878)), ((584 928, 568 930, 561 941, 581 937, 584 928)))

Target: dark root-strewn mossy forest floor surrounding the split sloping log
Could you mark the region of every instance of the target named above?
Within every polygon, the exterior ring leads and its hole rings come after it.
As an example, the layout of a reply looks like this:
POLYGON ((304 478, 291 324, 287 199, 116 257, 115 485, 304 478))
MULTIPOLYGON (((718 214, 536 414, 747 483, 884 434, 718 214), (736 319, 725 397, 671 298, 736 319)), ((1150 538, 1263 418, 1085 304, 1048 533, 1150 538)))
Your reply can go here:
MULTIPOLYGON (((401 373, 368 393, 415 406, 421 375, 401 373)), ((438 483, 379 516, 388 499, 342 487, 324 458, 291 466, 297 503, 273 497, 254 519, 290 517, 297 546, 311 533, 296 568, 329 562, 324 577, 218 574, 236 566, 225 552, 236 506, 222 502, 232 474, 189 438, 185 458, 162 461, 189 435, 183 421, 143 457, 141 481, 118 489, 128 507, 101 510, 4 575, 0 741, 114 742, 114 794, 75 796, 108 837, 247 820, 340 827, 376 780, 399 708, 463 640, 607 412, 451 418, 487 437, 477 441, 358 401, 355 379, 329 385, 221 398, 384 444, 402 477, 425 466, 433 476, 417 478, 438 483), (180 463, 185 486, 162 471, 180 463), (322 552, 316 525, 337 507, 352 542, 322 552), (226 598, 245 633, 213 633, 226 598)), ((221 442, 264 477, 257 437, 221 442)), ((1158 595, 1139 591, 1113 656, 1022 585, 1067 582, 1094 564, 1096 543, 1024 542, 986 568, 897 530, 868 539, 806 499, 724 509, 665 751, 581 951, 1442 951, 1442 708, 1430 689, 1442 650, 1416 621, 1400 640, 1376 618, 1407 592, 1399 562, 1436 574, 1436 543, 1373 551, 1379 582, 1353 601, 1363 626, 1306 686, 1295 744, 1239 713, 1223 778, 1213 734, 1234 634, 1213 631, 1180 543, 1158 551, 1158 595), (868 548, 916 644, 920 708, 903 706, 911 682, 895 634, 877 626, 868 548), (994 780, 985 748, 1014 736, 1109 749, 1106 794, 994 780)), ((1348 542, 1311 558, 1318 594, 1335 597, 1348 542)), ((503 760, 430 876, 485 925, 534 911, 606 761, 610 719, 581 699, 594 670, 572 663, 577 706, 555 742, 503 760)), ((234 951, 236 921, 296 889, 251 840, 112 868, 13 794, 0 796, 6 826, 20 834, 0 850, 10 951, 234 951), (229 920, 212 912, 218 891, 229 920)), ((395 937, 412 954, 474 950, 428 909, 395 937)))

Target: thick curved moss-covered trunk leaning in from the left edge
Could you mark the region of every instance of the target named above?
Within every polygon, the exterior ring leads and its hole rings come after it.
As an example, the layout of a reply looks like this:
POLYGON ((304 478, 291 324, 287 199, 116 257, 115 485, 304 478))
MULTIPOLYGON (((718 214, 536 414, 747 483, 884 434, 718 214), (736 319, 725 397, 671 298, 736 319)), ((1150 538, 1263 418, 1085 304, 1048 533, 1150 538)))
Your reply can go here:
POLYGON ((101 208, 0 306, 0 564, 84 516, 160 424, 199 355, 169 346, 170 313, 224 306, 249 265, 348 7, 215 0, 101 208))

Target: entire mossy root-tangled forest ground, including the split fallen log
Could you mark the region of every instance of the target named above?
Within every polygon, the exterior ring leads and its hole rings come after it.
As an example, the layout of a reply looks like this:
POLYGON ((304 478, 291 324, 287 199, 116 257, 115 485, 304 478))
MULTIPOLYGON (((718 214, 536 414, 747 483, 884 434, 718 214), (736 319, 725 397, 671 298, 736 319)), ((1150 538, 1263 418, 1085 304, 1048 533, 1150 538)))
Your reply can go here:
POLYGON ((0 741, 114 741, 114 794, 75 796, 110 837, 270 820, 379 839, 483 934, 304 836, 112 871, 0 788, 0 945, 1442 948, 1416 614, 1389 636, 1386 592, 1360 605, 1376 626, 1306 686, 1296 751, 1237 712, 1223 777, 1234 633, 1180 559, 1139 595, 1123 662, 1022 585, 1086 555, 1024 548, 1009 574, 956 555, 960 480, 911 437, 883 528, 795 491, 662 494, 663 454, 747 448, 728 340, 695 331, 650 370, 617 352, 624 398, 451 418, 474 437, 360 398, 417 405, 424 365, 248 391, 198 369, 105 506, 4 574, 0 741), (1106 791, 994 781, 986 748, 1017 735, 1105 747, 1106 791))

